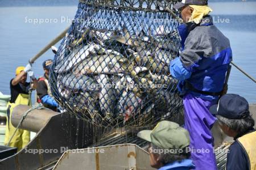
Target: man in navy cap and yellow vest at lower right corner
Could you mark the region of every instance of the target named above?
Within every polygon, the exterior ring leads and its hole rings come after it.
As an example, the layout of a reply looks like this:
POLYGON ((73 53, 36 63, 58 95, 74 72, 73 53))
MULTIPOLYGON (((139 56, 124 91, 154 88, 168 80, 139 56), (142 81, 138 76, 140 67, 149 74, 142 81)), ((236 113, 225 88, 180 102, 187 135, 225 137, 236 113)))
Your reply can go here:
POLYGON ((216 114, 221 129, 235 141, 229 148, 226 169, 256 170, 255 122, 246 99, 234 94, 224 95, 210 112, 216 114))

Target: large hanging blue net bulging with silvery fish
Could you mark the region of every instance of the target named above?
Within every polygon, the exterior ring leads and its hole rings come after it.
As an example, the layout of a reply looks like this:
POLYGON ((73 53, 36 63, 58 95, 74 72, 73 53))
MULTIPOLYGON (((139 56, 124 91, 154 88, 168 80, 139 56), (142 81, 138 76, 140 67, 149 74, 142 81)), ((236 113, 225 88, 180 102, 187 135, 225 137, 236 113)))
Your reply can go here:
POLYGON ((156 1, 80 1, 50 71, 53 96, 98 126, 172 120, 182 109, 169 71, 178 25, 156 1))

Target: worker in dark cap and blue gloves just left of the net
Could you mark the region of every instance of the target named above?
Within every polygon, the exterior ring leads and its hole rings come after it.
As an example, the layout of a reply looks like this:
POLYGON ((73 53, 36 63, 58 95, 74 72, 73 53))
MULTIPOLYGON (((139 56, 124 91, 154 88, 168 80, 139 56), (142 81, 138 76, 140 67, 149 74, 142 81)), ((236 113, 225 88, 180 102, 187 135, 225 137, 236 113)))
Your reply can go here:
POLYGON ((51 88, 49 87, 49 69, 52 66, 52 59, 47 59, 43 62, 44 76, 38 79, 38 88, 36 88, 38 95, 38 103, 42 103, 44 107, 57 111, 58 104, 51 97, 51 88))

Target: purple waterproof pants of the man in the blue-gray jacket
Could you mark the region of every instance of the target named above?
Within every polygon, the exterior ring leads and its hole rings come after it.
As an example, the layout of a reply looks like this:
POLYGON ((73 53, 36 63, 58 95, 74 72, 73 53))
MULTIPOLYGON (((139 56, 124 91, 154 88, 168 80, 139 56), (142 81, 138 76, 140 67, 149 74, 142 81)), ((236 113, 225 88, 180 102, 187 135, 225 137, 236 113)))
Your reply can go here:
POLYGON ((186 94, 183 97, 185 129, 191 140, 191 159, 197 170, 216 170, 216 158, 213 137, 210 129, 216 118, 209 112, 209 107, 216 101, 207 101, 186 94))

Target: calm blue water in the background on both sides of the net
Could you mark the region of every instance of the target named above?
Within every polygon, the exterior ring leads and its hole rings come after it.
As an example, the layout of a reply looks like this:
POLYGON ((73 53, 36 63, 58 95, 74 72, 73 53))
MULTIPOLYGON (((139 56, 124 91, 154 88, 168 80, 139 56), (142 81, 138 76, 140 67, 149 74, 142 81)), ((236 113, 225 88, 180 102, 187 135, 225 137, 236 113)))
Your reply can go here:
MULTIPOLYGON (((230 39, 234 62, 256 78, 256 2, 210 3, 210 6, 216 22, 230 21, 216 25, 230 39)), ((15 68, 26 65, 28 59, 68 27, 76 9, 76 6, 0 7, 1 92, 10 94, 9 83, 15 76, 15 68), (49 20, 33 24, 29 19, 49 20)), ((37 77, 43 74, 42 62, 49 58, 53 58, 51 51, 33 65, 37 77)), ((230 75, 229 93, 240 94, 250 103, 256 103, 256 84, 235 68, 230 75)))

